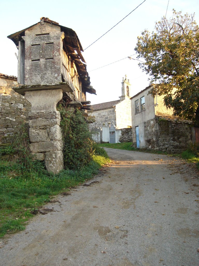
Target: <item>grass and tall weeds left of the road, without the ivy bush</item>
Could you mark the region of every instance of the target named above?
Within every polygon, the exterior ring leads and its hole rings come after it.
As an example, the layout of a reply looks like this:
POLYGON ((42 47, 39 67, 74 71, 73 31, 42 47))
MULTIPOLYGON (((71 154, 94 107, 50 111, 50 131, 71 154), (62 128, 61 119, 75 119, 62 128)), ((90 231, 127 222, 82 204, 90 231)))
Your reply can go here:
POLYGON ((0 146, 0 237, 25 229, 28 219, 51 196, 92 178, 109 162, 105 151, 100 149, 100 156, 91 148, 89 163, 81 167, 79 164, 76 170, 65 168, 54 175, 45 170, 44 162, 32 160, 25 124, 10 141, 0 146))

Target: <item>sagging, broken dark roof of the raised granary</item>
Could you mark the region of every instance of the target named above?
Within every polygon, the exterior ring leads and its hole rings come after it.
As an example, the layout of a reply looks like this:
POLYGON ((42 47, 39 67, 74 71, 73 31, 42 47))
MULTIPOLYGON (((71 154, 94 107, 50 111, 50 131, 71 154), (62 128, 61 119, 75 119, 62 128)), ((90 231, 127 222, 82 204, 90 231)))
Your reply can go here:
MULTIPOLYGON (((96 90, 93 89, 92 86, 90 86, 90 77, 88 76, 88 72, 86 70, 86 61, 83 55, 81 54, 81 52, 83 52, 84 50, 81 46, 80 40, 76 32, 73 31, 71 28, 67 28, 67 27, 59 25, 59 23, 53 20, 50 20, 49 18, 42 17, 40 22, 41 21, 59 26, 60 30, 64 32, 64 35, 65 35, 64 42, 63 42, 64 48, 70 54, 71 59, 75 62, 78 75, 81 79, 84 90, 88 93, 96 94, 96 90)), ((28 28, 25 28, 21 31, 15 32, 7 37, 11 39, 15 43, 15 45, 18 47, 19 41, 22 39, 22 36, 25 35, 25 31, 39 24, 40 22, 33 24, 32 26, 29 26, 28 28)))

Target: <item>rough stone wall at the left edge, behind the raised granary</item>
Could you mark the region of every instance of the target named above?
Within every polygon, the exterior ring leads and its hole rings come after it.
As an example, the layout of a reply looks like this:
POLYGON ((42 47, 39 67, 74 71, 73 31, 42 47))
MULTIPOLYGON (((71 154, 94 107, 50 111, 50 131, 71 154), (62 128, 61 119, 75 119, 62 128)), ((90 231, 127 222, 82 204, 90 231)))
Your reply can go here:
POLYGON ((31 108, 25 97, 12 89, 18 85, 16 78, 4 76, 0 76, 0 144, 7 142, 7 136, 18 131, 22 121, 27 121, 31 108))

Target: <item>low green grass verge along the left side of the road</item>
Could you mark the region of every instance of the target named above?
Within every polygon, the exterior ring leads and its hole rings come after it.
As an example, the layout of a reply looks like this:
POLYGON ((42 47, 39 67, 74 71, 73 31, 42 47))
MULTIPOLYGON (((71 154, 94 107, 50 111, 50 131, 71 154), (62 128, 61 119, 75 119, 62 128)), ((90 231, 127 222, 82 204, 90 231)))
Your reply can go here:
POLYGON ((41 162, 32 162, 27 169, 16 162, 1 160, 0 237, 25 229, 33 216, 31 211, 49 202, 51 196, 92 178, 109 162, 108 156, 93 155, 93 160, 80 170, 65 169, 54 175, 41 162))

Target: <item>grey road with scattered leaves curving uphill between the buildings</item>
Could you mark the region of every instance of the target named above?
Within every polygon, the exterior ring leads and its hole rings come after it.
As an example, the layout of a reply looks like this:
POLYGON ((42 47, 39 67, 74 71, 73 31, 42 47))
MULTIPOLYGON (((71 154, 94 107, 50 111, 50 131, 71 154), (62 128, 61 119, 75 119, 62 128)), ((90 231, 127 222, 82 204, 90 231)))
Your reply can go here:
POLYGON ((115 163, 91 185, 1 240, 0 265, 199 265, 198 173, 164 155, 106 150, 115 163))

